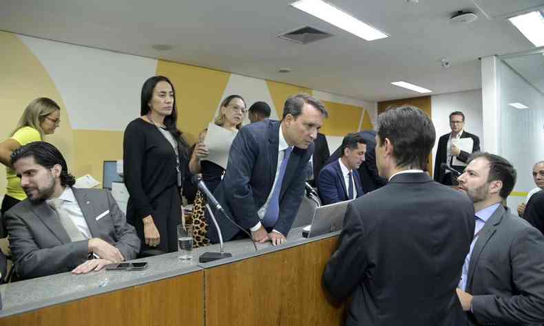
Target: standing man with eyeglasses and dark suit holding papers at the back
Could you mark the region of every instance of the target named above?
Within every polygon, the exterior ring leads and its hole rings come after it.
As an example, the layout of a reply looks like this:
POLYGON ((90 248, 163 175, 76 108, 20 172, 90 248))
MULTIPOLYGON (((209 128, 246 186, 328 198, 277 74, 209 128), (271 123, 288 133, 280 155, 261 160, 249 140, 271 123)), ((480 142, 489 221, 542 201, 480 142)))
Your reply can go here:
POLYGON ((442 169, 441 164, 446 163, 459 173, 463 173, 466 162, 471 153, 480 151, 480 138, 477 135, 463 130, 465 127, 465 115, 461 111, 450 113, 451 133, 442 135, 438 140, 437 158, 435 160, 435 181, 446 186, 457 185, 457 177, 450 171, 442 169), (461 149, 461 139, 472 138, 472 151, 461 149))

